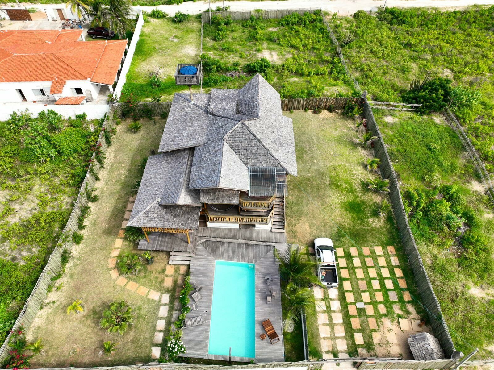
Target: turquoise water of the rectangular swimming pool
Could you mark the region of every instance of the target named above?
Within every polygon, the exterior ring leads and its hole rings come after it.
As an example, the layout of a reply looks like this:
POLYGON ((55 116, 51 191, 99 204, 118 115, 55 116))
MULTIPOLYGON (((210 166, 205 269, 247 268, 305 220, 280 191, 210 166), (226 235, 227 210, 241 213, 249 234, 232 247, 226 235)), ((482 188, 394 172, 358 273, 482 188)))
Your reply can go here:
POLYGON ((216 261, 208 353, 254 358, 254 310, 254 265, 216 261))

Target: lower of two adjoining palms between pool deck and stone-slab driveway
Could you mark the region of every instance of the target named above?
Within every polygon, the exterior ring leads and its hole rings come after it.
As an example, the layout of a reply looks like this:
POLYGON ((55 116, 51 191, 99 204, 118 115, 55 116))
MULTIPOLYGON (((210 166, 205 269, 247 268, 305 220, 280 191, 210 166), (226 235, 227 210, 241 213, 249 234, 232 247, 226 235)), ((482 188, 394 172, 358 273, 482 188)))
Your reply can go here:
POLYGON ((316 299, 312 290, 305 287, 297 287, 293 283, 288 283, 284 289, 287 298, 287 308, 283 329, 287 332, 293 331, 296 324, 300 322, 300 316, 304 313, 307 316, 314 316, 314 306, 316 299))

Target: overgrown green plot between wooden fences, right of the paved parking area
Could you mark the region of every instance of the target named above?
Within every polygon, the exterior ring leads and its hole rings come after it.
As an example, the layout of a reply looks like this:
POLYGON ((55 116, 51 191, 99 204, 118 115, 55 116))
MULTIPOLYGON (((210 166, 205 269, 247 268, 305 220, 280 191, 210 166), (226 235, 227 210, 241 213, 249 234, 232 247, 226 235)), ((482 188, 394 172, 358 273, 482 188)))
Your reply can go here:
POLYGON ((374 110, 456 349, 494 342, 492 204, 454 131, 436 117, 374 110), (386 117, 382 118, 384 115, 386 117), (479 294, 480 292, 480 294, 479 294), (468 323, 468 325, 465 325, 468 323), (456 333, 458 335, 456 335, 456 333))

